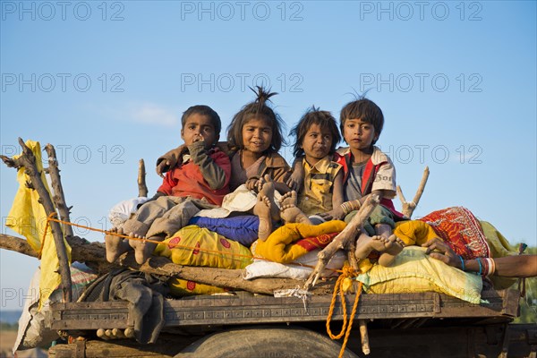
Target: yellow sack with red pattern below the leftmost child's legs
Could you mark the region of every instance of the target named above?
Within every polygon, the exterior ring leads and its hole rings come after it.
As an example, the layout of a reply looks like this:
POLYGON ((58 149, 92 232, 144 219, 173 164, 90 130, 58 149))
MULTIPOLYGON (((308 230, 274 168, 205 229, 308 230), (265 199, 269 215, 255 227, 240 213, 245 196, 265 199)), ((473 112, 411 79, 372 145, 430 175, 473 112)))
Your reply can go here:
POLYGON ((159 243, 154 253, 184 266, 236 269, 251 264, 251 252, 242 244, 195 225, 159 243))

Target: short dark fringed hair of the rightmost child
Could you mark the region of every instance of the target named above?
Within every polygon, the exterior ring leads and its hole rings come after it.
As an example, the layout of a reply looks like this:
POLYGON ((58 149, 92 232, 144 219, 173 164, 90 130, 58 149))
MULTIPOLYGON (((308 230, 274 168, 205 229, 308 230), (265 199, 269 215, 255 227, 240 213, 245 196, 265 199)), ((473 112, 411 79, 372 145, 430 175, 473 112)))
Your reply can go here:
MULTIPOLYGON (((371 99, 359 97, 343 107, 339 115, 339 128, 342 133, 345 130, 345 121, 347 119, 361 119, 363 122, 373 124, 375 134, 379 139, 380 132, 382 132, 382 127, 384 126, 384 115, 380 107, 371 99)), ((375 144, 375 142, 376 140, 371 144, 375 144)))

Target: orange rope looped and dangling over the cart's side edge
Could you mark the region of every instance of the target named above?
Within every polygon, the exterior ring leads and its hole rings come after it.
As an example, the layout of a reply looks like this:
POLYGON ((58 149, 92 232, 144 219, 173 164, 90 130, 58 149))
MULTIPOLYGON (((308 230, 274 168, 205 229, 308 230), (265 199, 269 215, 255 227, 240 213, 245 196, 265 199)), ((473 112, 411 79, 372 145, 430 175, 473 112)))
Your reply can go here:
POLYGON ((328 318, 327 318, 328 337, 332 339, 339 339, 345 335, 343 345, 341 346, 341 351, 339 352, 339 358, 341 358, 343 354, 345 353, 345 346, 347 344, 349 335, 351 334, 351 329, 353 328, 354 315, 356 314, 356 309, 358 308, 358 302, 360 301, 360 294, 362 294, 362 282, 360 282, 358 285, 358 292, 356 292, 356 296, 354 298, 354 305, 353 305, 353 311, 351 311, 351 318, 350 318, 350 321, 348 321, 348 325, 347 325, 345 293, 343 292, 343 289, 341 287, 343 284, 343 281, 347 277, 356 277, 356 271, 354 270, 354 268, 345 266, 345 268, 343 268, 343 274, 337 277, 337 282, 336 282, 336 285, 334 286, 334 293, 332 294, 332 301, 330 302, 330 308, 328 310, 328 318), (332 330, 330 329, 330 321, 332 320, 332 315, 334 314, 334 308, 336 307, 336 299, 337 299, 338 292, 341 298, 341 308, 343 310, 343 326, 341 328, 341 331, 337 335, 334 335, 332 333, 332 330))

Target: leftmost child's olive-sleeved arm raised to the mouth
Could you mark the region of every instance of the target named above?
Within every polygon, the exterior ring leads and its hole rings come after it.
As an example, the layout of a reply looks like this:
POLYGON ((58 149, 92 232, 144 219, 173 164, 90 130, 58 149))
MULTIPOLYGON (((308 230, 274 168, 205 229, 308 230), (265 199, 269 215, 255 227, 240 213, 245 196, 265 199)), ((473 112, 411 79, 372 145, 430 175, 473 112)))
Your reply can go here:
POLYGON ((217 151, 215 159, 205 149, 205 141, 195 141, 188 146, 192 162, 200 167, 201 175, 212 190, 218 190, 229 183, 231 163, 226 153, 217 151))

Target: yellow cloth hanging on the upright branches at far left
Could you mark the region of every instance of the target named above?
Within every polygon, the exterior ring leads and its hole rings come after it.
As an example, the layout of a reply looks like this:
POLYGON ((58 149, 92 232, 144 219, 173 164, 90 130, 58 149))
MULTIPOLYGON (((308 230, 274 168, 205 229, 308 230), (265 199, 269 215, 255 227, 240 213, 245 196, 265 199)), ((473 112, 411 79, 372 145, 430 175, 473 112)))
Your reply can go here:
MULTIPOLYGON (((26 141, 26 146, 34 153, 38 172, 41 173, 41 181, 45 185, 47 192, 50 194, 47 178, 45 177, 41 161, 41 146, 38 141, 26 141)), ((21 157, 21 155, 13 158, 19 157, 21 157)), ((26 186, 26 183, 30 181, 30 176, 26 175, 24 170, 25 168, 21 167, 17 173, 19 190, 15 194, 13 206, 8 214, 5 226, 26 237, 31 248, 41 254, 41 276, 39 278, 40 309, 42 303, 44 303, 55 288, 60 285, 61 277, 57 273, 59 260, 50 226, 47 229, 45 243, 41 243, 43 232, 47 225, 47 213, 45 212, 43 205, 38 202, 38 192, 29 189, 26 186)), ((71 264, 71 247, 65 241, 64 243, 69 264, 71 264)))

